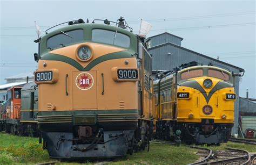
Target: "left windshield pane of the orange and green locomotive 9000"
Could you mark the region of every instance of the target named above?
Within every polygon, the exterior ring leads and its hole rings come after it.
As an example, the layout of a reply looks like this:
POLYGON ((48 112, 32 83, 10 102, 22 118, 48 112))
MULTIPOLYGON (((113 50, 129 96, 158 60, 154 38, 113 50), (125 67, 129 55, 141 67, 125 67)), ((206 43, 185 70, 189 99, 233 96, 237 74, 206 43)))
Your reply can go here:
POLYGON ((72 30, 68 32, 60 32, 57 35, 53 35, 47 40, 47 47, 51 49, 62 47, 61 44, 64 46, 73 44, 76 42, 80 42, 84 40, 84 31, 82 29, 72 30), (64 33, 68 34, 65 35, 64 33))

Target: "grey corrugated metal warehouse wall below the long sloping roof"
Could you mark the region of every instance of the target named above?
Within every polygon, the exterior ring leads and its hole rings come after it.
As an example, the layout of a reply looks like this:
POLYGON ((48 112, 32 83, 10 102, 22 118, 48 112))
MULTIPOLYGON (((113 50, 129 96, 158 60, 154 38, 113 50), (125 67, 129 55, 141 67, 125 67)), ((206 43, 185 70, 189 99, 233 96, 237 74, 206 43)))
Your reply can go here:
MULTIPOLYGON (((151 41, 152 42, 152 41, 151 41)), ((213 63, 215 66, 221 66, 230 72, 239 74, 239 69, 228 66, 224 63, 218 62, 216 60, 208 59, 204 56, 200 56, 192 51, 182 49, 178 46, 172 44, 165 44, 157 48, 149 48, 150 54, 152 54, 152 69, 153 70, 171 70, 175 67, 180 66, 183 63, 188 63, 191 61, 197 61, 198 63, 203 63, 207 65, 209 62, 213 63), (171 53, 171 55, 168 55, 171 53)), ((232 134, 238 133, 238 108, 239 108, 239 77, 236 77, 235 80, 235 92, 237 94, 237 101, 235 101, 235 124, 232 130, 232 134)))

